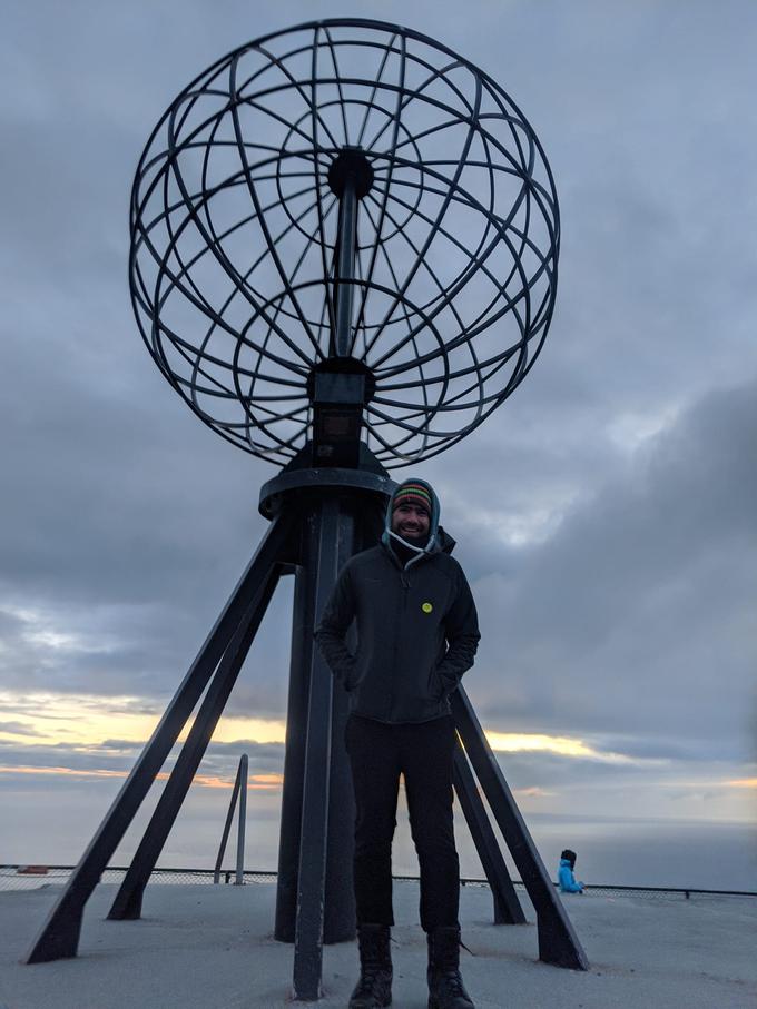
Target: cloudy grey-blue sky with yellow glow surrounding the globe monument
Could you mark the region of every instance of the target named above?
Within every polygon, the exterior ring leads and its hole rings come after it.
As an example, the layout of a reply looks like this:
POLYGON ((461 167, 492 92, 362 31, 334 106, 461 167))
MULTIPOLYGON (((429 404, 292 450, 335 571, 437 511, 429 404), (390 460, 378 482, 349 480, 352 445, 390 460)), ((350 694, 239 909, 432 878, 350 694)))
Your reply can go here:
MULTIPOLYGON (((426 31, 488 71, 535 128, 560 197, 542 356, 486 424, 417 471, 474 588, 483 639, 466 686, 508 780, 535 818, 754 820, 757 8, 4 11, 2 860, 77 859, 265 527, 258 489, 275 469, 205 428, 139 337, 127 284, 139 155, 218 57, 338 14, 426 31)), ((289 595, 193 789, 215 837, 249 752, 269 865, 289 595)), ((174 861, 206 864, 212 843, 198 854, 189 832, 174 861)))

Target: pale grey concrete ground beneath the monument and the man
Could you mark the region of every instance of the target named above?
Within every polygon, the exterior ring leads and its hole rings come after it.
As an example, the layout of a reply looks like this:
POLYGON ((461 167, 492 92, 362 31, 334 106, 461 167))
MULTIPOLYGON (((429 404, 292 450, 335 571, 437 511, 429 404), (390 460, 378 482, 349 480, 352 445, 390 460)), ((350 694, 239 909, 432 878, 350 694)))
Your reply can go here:
MULTIPOLYGON (((275 887, 148 887, 141 921, 104 921, 115 886, 85 914, 79 956, 19 962, 59 889, 0 893, 0 1009, 283 1009, 292 947, 272 937, 275 887)), ((562 970, 537 959, 534 916, 491 923, 485 888, 464 888, 463 978, 478 1009, 754 1009, 757 899, 570 896, 591 962, 562 970)), ((417 884, 395 884, 395 1009, 425 1009, 425 941, 417 884)), ((323 1009, 345 1007, 356 977, 352 943, 324 950, 323 1009)))

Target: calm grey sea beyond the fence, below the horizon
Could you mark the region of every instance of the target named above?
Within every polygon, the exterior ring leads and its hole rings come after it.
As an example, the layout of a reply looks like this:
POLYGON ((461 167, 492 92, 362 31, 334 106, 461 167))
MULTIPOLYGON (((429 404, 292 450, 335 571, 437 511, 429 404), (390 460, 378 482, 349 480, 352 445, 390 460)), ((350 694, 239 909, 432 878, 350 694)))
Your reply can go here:
MULTIPOLYGON (((43 798, 29 792, 6 795, 2 803, 6 815, 0 817, 0 862, 75 865, 109 804, 94 802, 94 798, 56 793, 52 789, 43 798), (9 799, 13 800, 12 811, 9 799)), ((212 869, 228 798, 227 790, 190 790, 158 865, 212 869)), ((140 811, 111 865, 128 864, 150 805, 140 811)), ((248 804, 246 869, 276 869, 279 809, 281 793, 260 797, 248 804)), ((483 871, 475 847, 462 815, 458 812, 456 817, 461 876, 480 879, 483 871)), ((544 813, 529 814, 525 823, 552 878, 557 876, 561 850, 570 848, 578 854, 577 878, 589 884, 757 892, 757 828, 753 823, 544 813)), ((235 838, 236 825, 224 865, 235 863, 235 838)), ((513 879, 519 879, 504 843, 502 850, 513 879)), ((417 876, 417 860, 402 804, 397 812, 393 871, 396 876, 417 876)))

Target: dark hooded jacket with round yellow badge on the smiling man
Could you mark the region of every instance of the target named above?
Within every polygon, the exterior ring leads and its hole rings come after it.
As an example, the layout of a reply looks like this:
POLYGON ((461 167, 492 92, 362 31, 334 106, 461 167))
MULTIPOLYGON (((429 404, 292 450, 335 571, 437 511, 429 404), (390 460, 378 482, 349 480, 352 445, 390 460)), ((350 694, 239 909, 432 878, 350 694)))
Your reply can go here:
MULTIPOLYGON (((438 508, 435 508, 438 512, 438 508)), ((473 665, 479 644, 475 604, 454 540, 430 530, 423 551, 403 566, 389 534, 340 572, 315 639, 350 692, 350 711, 391 724, 450 713, 449 695, 473 665), (355 621, 357 647, 345 637, 355 621)))

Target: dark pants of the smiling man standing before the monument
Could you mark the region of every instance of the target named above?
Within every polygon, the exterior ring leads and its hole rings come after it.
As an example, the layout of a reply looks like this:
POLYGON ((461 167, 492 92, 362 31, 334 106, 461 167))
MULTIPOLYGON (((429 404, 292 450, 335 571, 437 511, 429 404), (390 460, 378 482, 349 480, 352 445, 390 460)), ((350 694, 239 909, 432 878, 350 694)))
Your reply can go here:
POLYGON ((452 827, 452 718, 385 725, 351 715, 345 738, 355 788, 358 924, 394 924, 392 838, 402 774, 421 868, 421 926, 426 932, 456 926, 460 862, 452 827))

